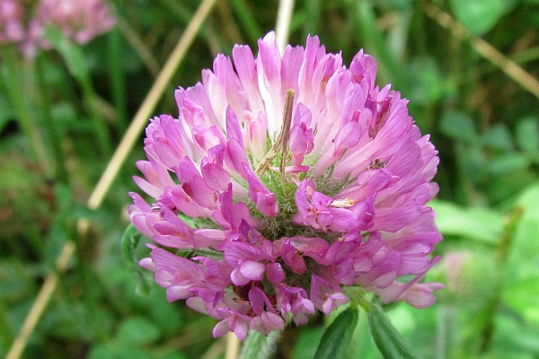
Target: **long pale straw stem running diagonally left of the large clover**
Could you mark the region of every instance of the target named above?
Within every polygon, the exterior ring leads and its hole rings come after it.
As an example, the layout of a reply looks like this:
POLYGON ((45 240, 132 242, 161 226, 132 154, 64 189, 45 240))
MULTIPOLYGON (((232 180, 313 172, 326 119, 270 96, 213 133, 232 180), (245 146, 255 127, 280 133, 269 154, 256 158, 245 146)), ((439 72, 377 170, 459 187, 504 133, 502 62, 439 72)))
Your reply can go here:
MULTIPOLYGON (((152 111, 155 109, 157 101, 161 99, 164 89, 180 65, 181 60, 183 57, 185 57, 187 50, 190 48, 190 44, 192 43, 196 34, 199 32, 202 23, 208 16, 208 13, 215 3, 216 0, 204 0, 202 4, 200 4, 199 9, 194 14, 192 20, 187 26, 187 29, 183 32, 178 45, 176 45, 176 48, 173 49, 171 56, 168 58, 163 67, 163 70, 157 77, 157 80, 150 89, 150 92, 147 94, 145 101, 140 106, 140 109, 138 109, 135 118, 128 127, 128 131, 122 138, 116 152, 112 155, 106 170, 102 174, 102 178, 99 180, 93 190, 92 195, 88 199, 87 206, 89 208, 96 209, 102 205, 103 199, 110 190, 112 181, 118 175, 119 169, 128 157, 128 153, 133 148, 133 145, 137 141, 142 129, 145 127, 147 119, 151 116, 152 111)), ((86 220, 81 220, 79 223, 77 223, 79 234, 84 234, 84 232, 87 232, 87 228, 88 222, 86 220)), ((31 333, 35 329, 38 321, 40 320, 41 314, 47 307, 52 293, 54 293, 57 287, 59 274, 66 270, 67 264, 73 257, 74 253, 75 243, 68 241, 62 249, 60 256, 57 258, 55 271, 49 273, 49 275, 45 278, 45 282, 40 289, 40 293, 38 293, 36 301, 31 307, 31 311, 28 313, 24 323, 22 323, 22 328, 13 341, 13 345, 11 346, 6 359, 17 359, 21 357, 29 338, 31 337, 31 333)))

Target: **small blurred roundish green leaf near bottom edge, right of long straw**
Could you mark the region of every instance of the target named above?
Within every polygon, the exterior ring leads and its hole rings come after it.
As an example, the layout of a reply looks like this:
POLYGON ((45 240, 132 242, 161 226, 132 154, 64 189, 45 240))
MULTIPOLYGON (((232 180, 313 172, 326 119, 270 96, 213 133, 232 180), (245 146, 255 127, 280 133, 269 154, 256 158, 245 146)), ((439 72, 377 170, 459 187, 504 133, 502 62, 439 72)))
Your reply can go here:
POLYGON ((120 343, 128 346, 144 346, 154 342, 161 335, 159 328, 143 317, 131 317, 121 322, 118 328, 120 343))

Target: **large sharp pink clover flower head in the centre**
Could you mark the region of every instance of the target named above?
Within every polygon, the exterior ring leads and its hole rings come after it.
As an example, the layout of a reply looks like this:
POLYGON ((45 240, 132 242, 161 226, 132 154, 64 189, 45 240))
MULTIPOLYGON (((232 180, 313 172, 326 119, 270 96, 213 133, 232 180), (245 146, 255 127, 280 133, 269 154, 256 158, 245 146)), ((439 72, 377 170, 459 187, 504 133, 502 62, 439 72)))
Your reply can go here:
POLYGON ((362 51, 347 68, 316 37, 258 47, 217 56, 175 92, 178 118, 146 128, 135 181, 152 200, 131 193, 129 213, 159 247, 140 265, 169 301, 219 320, 216 337, 329 315, 347 286, 431 305, 438 159, 408 101, 376 86, 362 51))

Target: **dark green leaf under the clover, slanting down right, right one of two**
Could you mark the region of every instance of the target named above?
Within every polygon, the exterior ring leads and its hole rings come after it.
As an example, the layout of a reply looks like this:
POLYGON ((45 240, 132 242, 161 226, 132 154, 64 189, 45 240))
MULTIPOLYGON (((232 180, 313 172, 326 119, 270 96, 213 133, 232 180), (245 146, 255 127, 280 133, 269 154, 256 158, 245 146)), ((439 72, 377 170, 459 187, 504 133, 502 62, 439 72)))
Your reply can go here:
POLYGON ((368 312, 368 325, 378 350, 386 359, 415 358, 411 347, 393 327, 384 311, 373 305, 368 312))

